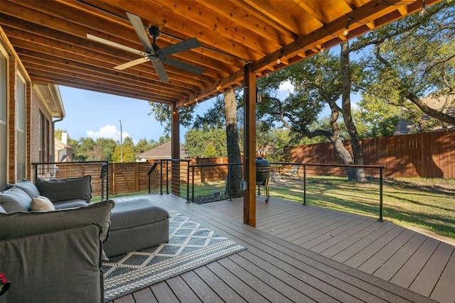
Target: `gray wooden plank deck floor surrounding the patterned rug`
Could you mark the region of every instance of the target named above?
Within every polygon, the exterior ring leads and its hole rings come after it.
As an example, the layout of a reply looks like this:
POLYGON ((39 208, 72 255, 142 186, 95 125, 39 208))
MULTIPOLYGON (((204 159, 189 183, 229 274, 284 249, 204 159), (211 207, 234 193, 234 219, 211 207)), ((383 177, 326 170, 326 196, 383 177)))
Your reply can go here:
MULTIPOLYGON (((247 249, 114 303, 455 302, 455 247, 406 228, 260 197, 252 228, 242 224, 242 199, 197 205, 146 197, 247 249)), ((129 199, 137 197, 117 201, 129 199)))

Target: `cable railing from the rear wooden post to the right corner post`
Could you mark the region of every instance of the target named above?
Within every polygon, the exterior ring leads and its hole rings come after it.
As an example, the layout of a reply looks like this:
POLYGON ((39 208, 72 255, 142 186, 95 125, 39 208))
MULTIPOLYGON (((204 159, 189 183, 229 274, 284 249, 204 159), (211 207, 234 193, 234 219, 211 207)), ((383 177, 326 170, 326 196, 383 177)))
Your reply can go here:
MULTIPOLYGON (((269 195, 301 204, 378 216, 382 221, 384 166, 270 163, 269 195)), ((188 165, 179 194, 187 202, 204 204, 242 197, 242 163, 188 165)), ((268 202, 257 184, 257 202, 268 202)))

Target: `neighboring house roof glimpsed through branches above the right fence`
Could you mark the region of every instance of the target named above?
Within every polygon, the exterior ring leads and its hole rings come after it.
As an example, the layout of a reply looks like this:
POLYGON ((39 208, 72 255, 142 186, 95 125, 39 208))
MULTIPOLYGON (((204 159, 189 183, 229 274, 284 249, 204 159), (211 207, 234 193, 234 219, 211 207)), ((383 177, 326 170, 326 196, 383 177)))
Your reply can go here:
MULTIPOLYGON (((444 106, 444 101, 441 99, 435 99, 433 97, 426 97, 422 99, 427 106, 431 107, 432 109, 436 109, 440 111, 442 109, 442 106, 444 106)), ((455 117, 455 106, 449 106, 449 109, 447 109, 446 114, 449 116, 454 116, 455 117)), ((428 121, 430 119, 430 116, 427 114, 422 114, 422 121, 428 121)), ((455 130, 455 126, 449 125, 447 126, 448 131, 453 131, 455 130)), ((435 126, 434 128, 431 128, 427 131, 443 131, 441 124, 439 126, 435 126)), ((405 119, 400 118, 397 123, 397 127, 395 128, 395 132, 393 133, 394 136, 398 135, 407 135, 410 133, 419 133, 420 132, 420 127, 419 125, 416 125, 410 121, 406 121, 405 119)))

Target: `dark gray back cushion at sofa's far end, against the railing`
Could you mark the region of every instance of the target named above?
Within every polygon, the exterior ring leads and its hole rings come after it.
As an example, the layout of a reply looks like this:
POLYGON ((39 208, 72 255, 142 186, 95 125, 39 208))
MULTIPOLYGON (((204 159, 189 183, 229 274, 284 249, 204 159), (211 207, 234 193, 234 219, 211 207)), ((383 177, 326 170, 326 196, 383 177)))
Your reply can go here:
POLYGON ((90 175, 60 180, 36 180, 35 184, 41 195, 52 202, 82 199, 92 199, 92 184, 90 175))

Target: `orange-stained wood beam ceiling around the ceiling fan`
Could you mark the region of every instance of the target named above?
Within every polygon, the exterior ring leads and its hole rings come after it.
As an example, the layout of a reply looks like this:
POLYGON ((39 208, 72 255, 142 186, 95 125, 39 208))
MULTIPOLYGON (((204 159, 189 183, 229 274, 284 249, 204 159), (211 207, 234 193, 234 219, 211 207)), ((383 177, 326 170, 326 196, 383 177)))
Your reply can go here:
MULTIPOLYGON (((440 0, 425 0, 427 6, 440 0)), ((55 0, 0 1, 0 26, 33 82, 183 106, 242 84, 243 67, 257 77, 331 48, 421 9, 422 0, 55 0), (126 12, 159 26, 160 48, 196 37, 202 45, 170 56, 203 75, 151 62, 113 67, 138 55, 87 38, 87 33, 144 50, 126 12), (349 33, 343 35, 348 25, 349 33)), ((144 29, 145 31, 145 29, 144 29)))

